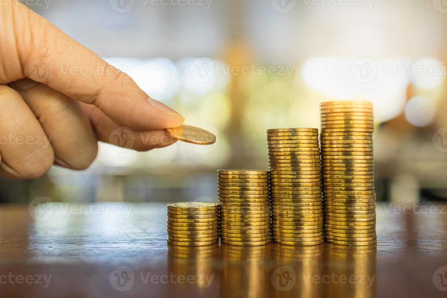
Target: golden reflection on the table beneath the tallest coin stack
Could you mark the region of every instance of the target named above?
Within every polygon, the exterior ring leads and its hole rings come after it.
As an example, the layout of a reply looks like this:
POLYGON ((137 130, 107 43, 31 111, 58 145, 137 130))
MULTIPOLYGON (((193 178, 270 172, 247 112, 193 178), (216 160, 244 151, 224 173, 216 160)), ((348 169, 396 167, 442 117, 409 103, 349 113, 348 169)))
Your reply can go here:
POLYGON ((331 282, 325 284, 325 296, 376 297, 377 246, 345 247, 326 244, 326 262, 331 282))

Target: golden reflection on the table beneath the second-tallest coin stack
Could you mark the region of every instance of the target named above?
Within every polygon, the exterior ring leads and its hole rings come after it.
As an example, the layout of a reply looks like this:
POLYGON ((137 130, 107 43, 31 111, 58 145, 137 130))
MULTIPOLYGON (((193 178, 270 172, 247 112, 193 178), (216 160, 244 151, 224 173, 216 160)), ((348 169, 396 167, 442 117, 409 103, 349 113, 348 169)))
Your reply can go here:
POLYGON ((324 269, 323 245, 289 246, 274 244, 272 258, 275 266, 271 273, 272 297, 324 297, 315 277, 322 276, 324 269))

